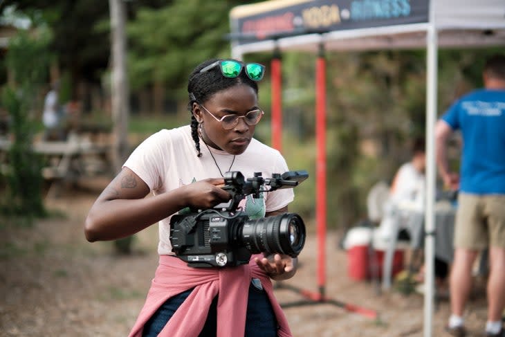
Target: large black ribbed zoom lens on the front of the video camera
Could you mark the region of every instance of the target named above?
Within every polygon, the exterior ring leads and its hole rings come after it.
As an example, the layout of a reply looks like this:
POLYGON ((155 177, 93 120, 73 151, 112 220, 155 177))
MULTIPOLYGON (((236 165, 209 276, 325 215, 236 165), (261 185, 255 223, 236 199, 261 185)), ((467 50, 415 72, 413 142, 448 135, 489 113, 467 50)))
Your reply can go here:
POLYGON ((251 253, 297 257, 305 244, 305 224, 296 213, 244 221, 241 229, 241 242, 251 253))

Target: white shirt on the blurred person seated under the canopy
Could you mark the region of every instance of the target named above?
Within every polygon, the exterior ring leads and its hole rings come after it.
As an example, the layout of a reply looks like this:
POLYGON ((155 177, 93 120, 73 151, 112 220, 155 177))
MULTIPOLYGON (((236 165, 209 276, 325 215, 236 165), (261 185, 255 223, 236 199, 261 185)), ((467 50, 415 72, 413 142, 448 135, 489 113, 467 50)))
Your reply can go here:
POLYGON ((425 176, 409 162, 401 165, 394 177, 390 201, 398 208, 422 211, 424 209, 425 176))

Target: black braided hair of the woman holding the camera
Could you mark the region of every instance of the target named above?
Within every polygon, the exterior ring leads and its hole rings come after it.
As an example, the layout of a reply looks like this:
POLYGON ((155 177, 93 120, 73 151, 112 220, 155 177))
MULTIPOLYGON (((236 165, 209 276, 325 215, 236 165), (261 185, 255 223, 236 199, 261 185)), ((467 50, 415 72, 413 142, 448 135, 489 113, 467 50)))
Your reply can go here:
POLYGON ((231 88, 238 84, 246 84, 250 86, 256 94, 258 94, 258 85, 255 81, 250 80, 244 71, 241 71, 236 78, 226 78, 221 73, 219 66, 216 66, 208 71, 200 73, 200 70, 205 66, 216 62, 218 59, 207 60, 192 71, 190 78, 187 82, 187 93, 190 101, 187 104, 187 109, 191 113, 191 135, 194 140, 194 147, 196 148, 196 156, 201 157, 200 152, 200 138, 198 134, 199 122, 193 115, 193 103, 203 104, 210 100, 215 93, 231 88))

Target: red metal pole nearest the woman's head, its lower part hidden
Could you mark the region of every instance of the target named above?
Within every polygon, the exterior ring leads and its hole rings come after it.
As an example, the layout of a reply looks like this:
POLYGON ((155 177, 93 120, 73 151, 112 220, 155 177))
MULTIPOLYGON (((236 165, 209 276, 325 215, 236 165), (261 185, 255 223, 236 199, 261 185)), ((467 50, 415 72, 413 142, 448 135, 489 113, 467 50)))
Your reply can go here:
POLYGON ((270 62, 272 81, 272 147, 282 152, 282 70, 281 58, 274 52, 270 62))

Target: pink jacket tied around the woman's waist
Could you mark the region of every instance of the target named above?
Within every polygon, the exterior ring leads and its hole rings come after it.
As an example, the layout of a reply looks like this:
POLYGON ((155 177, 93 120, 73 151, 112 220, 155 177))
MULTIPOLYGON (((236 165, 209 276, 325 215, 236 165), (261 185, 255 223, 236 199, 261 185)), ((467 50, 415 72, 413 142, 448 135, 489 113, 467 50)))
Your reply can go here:
POLYGON ((284 312, 273 295, 270 277, 255 264, 254 256, 249 264, 232 268, 193 268, 181 259, 169 255, 160 255, 151 289, 129 336, 141 337, 147 320, 166 300, 192 288, 194 290, 158 336, 198 337, 205 324, 210 304, 218 293, 217 337, 244 336, 248 290, 252 277, 261 280, 268 294, 280 327, 277 336, 292 336, 284 312))

